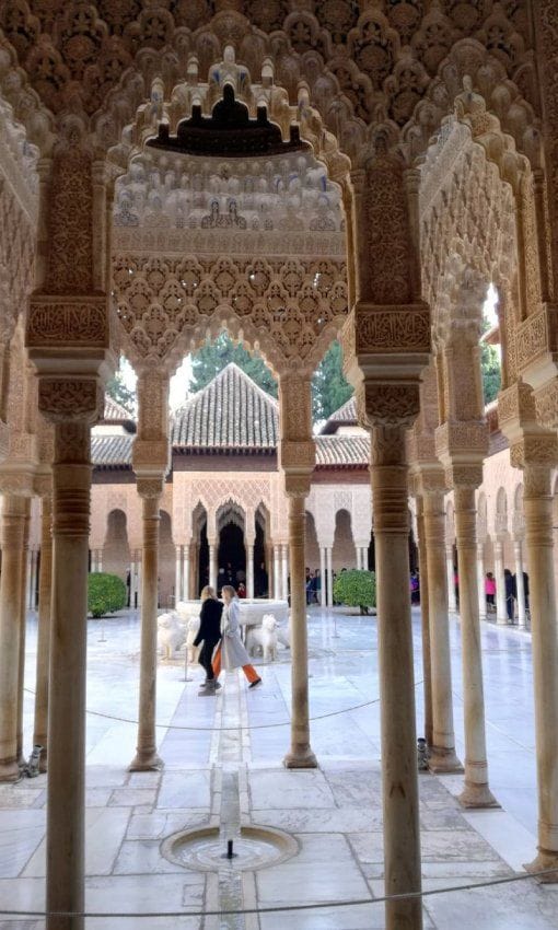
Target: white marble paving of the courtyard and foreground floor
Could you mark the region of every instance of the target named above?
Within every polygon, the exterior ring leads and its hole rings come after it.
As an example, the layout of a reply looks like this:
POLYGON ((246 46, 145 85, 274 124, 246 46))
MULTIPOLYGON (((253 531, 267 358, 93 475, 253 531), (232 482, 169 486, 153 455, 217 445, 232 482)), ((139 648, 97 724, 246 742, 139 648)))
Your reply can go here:
MULTIPOLYGON (((420 614, 414 609, 418 732, 422 730, 420 614)), ((458 623, 451 621, 454 716, 463 757, 458 623)), ((36 621, 27 629, 25 736, 31 752, 36 621)), ((375 930, 384 927, 380 708, 375 617, 311 608, 312 745, 319 768, 287 771, 289 653, 260 665, 246 689, 234 673, 198 697, 198 667, 160 662, 162 772, 129 774, 136 744, 139 621, 89 623, 88 930, 375 930), (185 672, 189 681, 185 682, 185 672), (200 872, 165 858, 163 841, 198 826, 267 825, 294 839, 278 864, 200 872), (338 906, 338 902, 363 904, 338 906), (313 909, 274 910, 297 905, 313 909), (335 906, 334 906, 335 904, 335 906), (259 914, 223 914, 224 910, 259 914), (213 911, 213 914, 211 914, 213 911), (106 915, 106 916, 105 916, 106 915), (133 916, 114 916, 133 915, 133 916), (158 915, 158 916, 152 916, 158 915), (177 915, 181 915, 179 917, 177 915)), ((420 776, 425 928, 550 930, 558 887, 533 880, 444 892, 513 875, 536 845, 531 642, 483 627, 491 788, 502 809, 463 812, 460 776, 420 776)), ((0 928, 37 930, 45 906, 46 777, 0 786, 0 928), (10 911, 11 912, 8 912, 10 911)))

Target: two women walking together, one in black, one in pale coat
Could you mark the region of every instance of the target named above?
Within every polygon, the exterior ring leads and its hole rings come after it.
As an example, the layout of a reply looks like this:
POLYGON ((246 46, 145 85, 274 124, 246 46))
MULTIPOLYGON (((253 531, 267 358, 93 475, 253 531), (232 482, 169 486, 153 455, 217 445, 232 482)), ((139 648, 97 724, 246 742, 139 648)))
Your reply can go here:
POLYGON ((206 672, 206 681, 198 691, 201 697, 210 697, 221 687, 218 681, 221 670, 230 672, 242 669, 251 688, 261 683, 241 639, 241 611, 236 591, 232 584, 224 584, 221 594, 222 602, 217 598, 213 589, 206 584, 200 595, 199 631, 194 646, 201 646, 198 661, 206 672))

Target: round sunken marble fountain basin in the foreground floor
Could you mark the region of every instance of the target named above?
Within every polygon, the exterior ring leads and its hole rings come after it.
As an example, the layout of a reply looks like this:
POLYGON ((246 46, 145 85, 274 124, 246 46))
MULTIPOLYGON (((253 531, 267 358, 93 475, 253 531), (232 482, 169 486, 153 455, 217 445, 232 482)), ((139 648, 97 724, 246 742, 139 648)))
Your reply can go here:
POLYGON ((242 827, 240 836, 225 839, 219 827, 183 830, 161 844, 161 852, 170 862, 199 872, 217 872, 229 864, 240 871, 266 869, 298 851, 299 844, 289 834, 259 826, 242 827), (233 859, 226 859, 228 839, 233 840, 233 859))

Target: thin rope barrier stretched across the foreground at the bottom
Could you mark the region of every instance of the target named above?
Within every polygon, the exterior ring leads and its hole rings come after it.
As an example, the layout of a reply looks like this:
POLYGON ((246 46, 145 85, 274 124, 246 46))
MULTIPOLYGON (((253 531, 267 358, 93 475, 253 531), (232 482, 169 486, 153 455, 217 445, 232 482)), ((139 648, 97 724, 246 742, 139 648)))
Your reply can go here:
POLYGON ((509 885, 513 882, 524 882, 530 879, 539 879, 544 875, 556 875, 558 869, 542 869, 538 872, 526 872, 521 875, 505 875, 501 879, 490 879, 486 882, 469 882, 466 885, 450 885, 446 888, 429 888, 429 891, 405 892, 396 895, 382 895, 381 897, 352 898, 349 900, 314 902, 313 904, 284 904, 271 907, 249 907, 242 910, 166 910, 166 911, 95 911, 95 910, 8 910, 0 909, 0 917, 241 917, 243 915, 258 914, 288 914, 300 910, 324 910, 337 907, 361 907, 367 904, 386 904, 392 900, 411 900, 415 898, 433 897, 434 895, 453 894, 454 892, 473 892, 477 888, 490 888, 497 885, 509 885))

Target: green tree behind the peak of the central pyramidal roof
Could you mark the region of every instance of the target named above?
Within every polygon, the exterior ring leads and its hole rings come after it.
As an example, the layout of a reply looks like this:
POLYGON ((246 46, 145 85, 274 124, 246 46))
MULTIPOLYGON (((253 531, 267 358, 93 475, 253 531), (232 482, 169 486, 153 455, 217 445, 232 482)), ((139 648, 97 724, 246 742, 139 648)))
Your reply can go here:
POLYGON ((259 387, 277 397, 277 381, 264 359, 251 354, 244 346, 235 346, 226 333, 221 333, 214 342, 206 342, 191 356, 190 391, 201 391, 230 362, 237 364, 259 387))

